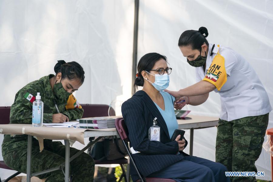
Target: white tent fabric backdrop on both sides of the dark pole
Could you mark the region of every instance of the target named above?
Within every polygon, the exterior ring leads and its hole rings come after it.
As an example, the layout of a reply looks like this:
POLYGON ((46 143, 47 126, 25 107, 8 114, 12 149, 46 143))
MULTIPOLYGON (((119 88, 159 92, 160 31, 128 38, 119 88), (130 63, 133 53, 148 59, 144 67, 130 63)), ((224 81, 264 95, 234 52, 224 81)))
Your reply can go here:
MULTIPOLYGON (((250 62, 272 104, 272 9, 272 0, 140 0, 138 60, 148 52, 164 54, 173 68, 168 89, 194 84, 194 68, 177 43, 183 31, 205 26, 209 42, 229 46, 250 62)), ((54 73, 56 60, 64 59, 79 62, 86 72, 83 86, 75 93, 79 102, 110 104, 116 100, 113 106, 120 115, 120 103, 131 97, 133 16, 133 0, 0 1, 0 106, 10 106, 20 88, 54 73)), ((206 103, 185 109, 218 116, 219 95, 210 93, 206 103)), ((269 117, 271 128, 273 115, 269 117)), ((195 156, 215 160, 216 130, 194 130, 195 156)), ((263 150, 256 166, 265 177, 259 179, 270 180, 269 159, 263 150)), ((11 173, 1 169, 0 177, 11 173)))

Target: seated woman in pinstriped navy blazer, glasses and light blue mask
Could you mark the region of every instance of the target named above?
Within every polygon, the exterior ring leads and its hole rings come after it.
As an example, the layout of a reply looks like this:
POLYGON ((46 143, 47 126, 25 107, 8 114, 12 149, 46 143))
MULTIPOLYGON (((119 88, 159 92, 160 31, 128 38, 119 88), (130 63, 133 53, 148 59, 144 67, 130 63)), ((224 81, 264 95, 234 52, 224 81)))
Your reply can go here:
MULTIPOLYGON (((121 111, 128 127, 130 147, 140 152, 132 154, 140 174, 176 181, 230 181, 225 176, 227 168, 224 165, 184 153, 185 138, 179 140, 178 135, 176 140, 170 140, 178 124, 174 114, 175 98, 163 92, 169 86, 171 73, 167 58, 148 53, 140 59, 137 69, 134 85, 143 86, 143 89, 124 102, 121 111), (156 125, 160 127, 160 142, 150 141, 148 136, 155 117, 156 125)), ((133 166, 130 169, 132 179, 136 181, 139 178, 136 170, 133 166)))

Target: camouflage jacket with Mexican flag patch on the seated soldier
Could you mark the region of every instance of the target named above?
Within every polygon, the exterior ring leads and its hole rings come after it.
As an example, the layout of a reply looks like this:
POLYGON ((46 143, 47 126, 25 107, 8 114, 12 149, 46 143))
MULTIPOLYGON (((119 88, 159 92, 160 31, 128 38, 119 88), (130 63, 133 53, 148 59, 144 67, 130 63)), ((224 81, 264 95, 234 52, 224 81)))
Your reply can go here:
MULTIPOLYGON (((58 113, 54 100, 59 112, 66 115, 69 120, 80 119, 83 116, 83 109, 72 94, 66 99, 55 97, 49 82, 49 79, 53 76, 54 75, 50 74, 39 80, 35 80, 16 93, 10 111, 11 124, 32 124, 32 102, 34 101, 37 92, 40 93, 41 100, 44 103, 43 123, 51 123, 52 115, 58 113), (34 98, 32 98, 32 96, 34 96, 34 98)), ((3 143, 21 140, 27 140, 27 136, 16 135, 15 137, 10 137, 10 135, 5 135, 3 143)))

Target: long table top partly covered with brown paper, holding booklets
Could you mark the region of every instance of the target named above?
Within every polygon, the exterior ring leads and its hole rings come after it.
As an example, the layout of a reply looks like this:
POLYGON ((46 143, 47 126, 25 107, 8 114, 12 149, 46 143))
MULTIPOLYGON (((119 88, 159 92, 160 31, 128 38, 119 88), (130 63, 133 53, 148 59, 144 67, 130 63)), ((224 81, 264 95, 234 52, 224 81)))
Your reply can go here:
MULTIPOLYGON (((110 116, 118 118, 122 116, 110 116)), ((204 128, 217 126, 218 118, 209 116, 189 115, 191 120, 177 120, 179 129, 204 128)), ((111 129, 79 129, 79 128, 54 128, 32 127, 31 124, 4 124, 0 125, 0 134, 32 135, 51 140, 76 140, 84 144, 84 137, 118 135, 116 128, 111 129)))

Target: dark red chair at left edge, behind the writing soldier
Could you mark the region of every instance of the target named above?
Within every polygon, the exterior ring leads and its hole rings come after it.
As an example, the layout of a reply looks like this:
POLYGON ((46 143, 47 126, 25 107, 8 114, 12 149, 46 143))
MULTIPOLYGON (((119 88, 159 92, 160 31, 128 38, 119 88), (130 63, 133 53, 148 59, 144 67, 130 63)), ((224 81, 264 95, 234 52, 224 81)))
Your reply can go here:
MULTIPOLYGON (((9 123, 9 113, 10 113, 10 107, 5 106, 5 107, 0 107, 0 124, 8 124, 9 123)), ((3 160, 0 161, 0 168, 2 169, 8 169, 8 170, 13 170, 9 168, 3 160)), ((10 179, 13 177, 17 176, 21 172, 16 172, 15 174, 12 174, 10 177, 8 177, 4 182, 8 182, 10 179)), ((0 177, 0 182, 1 177, 0 177)))

